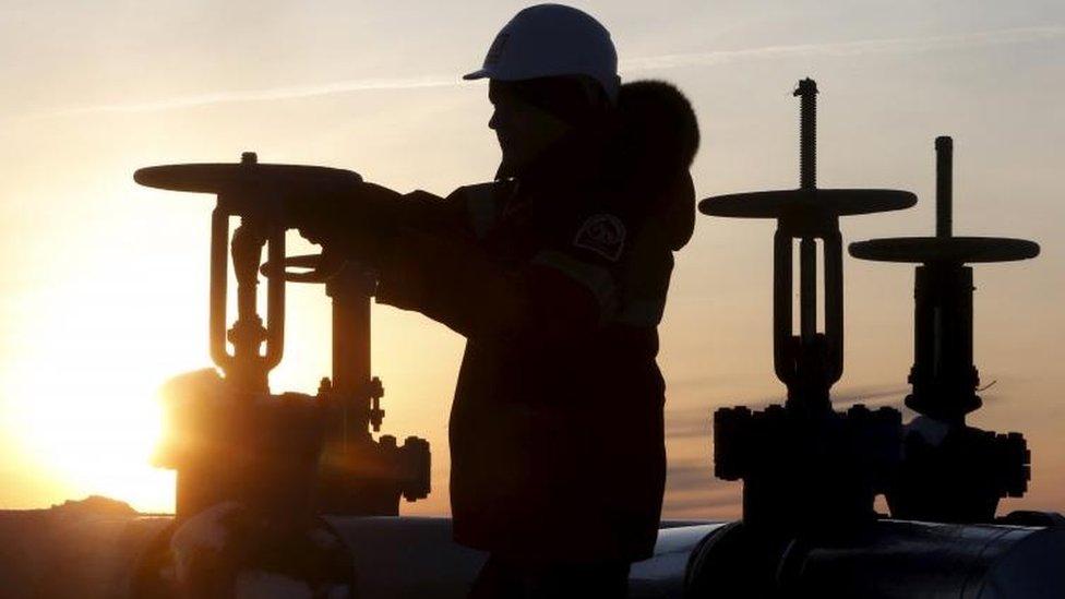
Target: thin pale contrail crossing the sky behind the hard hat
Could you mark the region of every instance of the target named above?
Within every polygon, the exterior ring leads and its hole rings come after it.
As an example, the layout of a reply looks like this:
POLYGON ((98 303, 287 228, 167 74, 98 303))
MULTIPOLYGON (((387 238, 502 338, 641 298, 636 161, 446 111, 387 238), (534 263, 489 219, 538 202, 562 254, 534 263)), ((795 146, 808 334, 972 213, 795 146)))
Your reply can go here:
MULTIPOLYGON (((923 38, 869 39, 833 44, 766 46, 741 50, 717 50, 680 55, 661 55, 624 60, 622 73, 659 71, 681 67, 716 67, 738 62, 777 60, 803 57, 850 57, 876 53, 911 53, 1001 46, 1065 38, 1065 26, 1025 27, 923 38)), ((87 112, 155 112, 176 108, 191 108, 217 104, 285 100, 331 96, 372 89, 418 89, 448 87, 460 84, 457 75, 431 75, 408 79, 362 79, 319 85, 296 85, 252 91, 229 91, 198 94, 145 103, 105 104, 61 110, 59 115, 87 112)))

